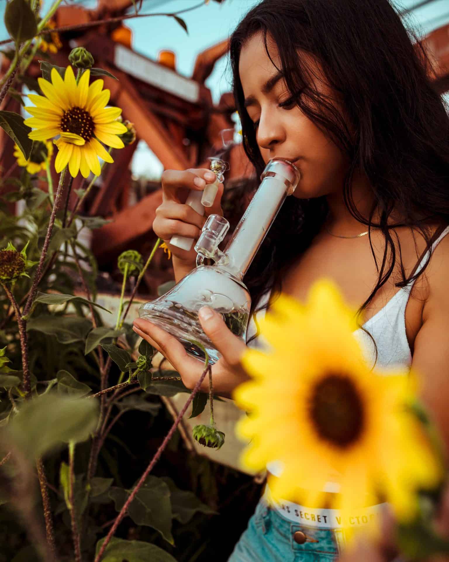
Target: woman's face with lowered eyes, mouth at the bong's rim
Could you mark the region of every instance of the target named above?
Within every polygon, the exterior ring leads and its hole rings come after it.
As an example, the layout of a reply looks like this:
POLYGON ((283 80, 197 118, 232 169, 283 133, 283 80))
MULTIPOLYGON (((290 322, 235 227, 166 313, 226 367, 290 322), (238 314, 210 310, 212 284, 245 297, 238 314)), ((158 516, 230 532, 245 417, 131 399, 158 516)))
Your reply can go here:
MULTIPOLYGON (((276 45, 272 41, 268 45, 274 64, 281 68, 276 45)), ((323 83, 320 66, 309 55, 304 56, 318 75, 311 78, 315 88, 332 96, 323 83)), ((241 49, 239 73, 246 111, 254 123, 265 164, 274 157, 295 161, 301 180, 294 194, 301 199, 341 192, 349 161, 291 99, 285 81, 265 52, 262 33, 241 49)))

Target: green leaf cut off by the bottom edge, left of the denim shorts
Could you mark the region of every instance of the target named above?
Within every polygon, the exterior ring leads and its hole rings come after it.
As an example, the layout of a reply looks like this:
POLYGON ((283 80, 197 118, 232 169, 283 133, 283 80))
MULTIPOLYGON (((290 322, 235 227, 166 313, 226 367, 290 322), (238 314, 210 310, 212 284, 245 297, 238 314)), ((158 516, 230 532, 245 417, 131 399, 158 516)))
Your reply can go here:
MULTIPOLYGON (((104 537, 106 538, 106 537, 104 537)), ((103 545, 104 538, 97 542, 96 554, 103 545)), ((171 554, 158 546, 143 541, 125 541, 112 537, 104 550, 102 562, 176 562, 171 554)))

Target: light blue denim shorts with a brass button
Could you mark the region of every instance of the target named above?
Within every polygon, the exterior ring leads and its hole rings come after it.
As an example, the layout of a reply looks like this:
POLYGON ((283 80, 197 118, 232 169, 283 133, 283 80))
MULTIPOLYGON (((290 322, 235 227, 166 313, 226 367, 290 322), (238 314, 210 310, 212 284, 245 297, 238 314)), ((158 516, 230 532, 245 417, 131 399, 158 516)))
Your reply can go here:
POLYGON ((292 523, 262 497, 228 562, 333 562, 343 544, 341 529, 292 523), (294 539, 297 531, 307 538, 303 544, 294 539))

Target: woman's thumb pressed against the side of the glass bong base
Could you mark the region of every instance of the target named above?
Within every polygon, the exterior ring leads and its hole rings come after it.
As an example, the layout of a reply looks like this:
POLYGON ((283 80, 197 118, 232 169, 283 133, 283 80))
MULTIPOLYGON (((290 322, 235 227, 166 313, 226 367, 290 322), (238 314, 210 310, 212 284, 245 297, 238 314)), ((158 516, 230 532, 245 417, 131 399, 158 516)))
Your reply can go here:
POLYGON ((246 350, 244 341, 234 336, 224 324, 222 316, 209 306, 201 307, 198 311, 198 317, 205 334, 222 354, 223 359, 231 366, 239 365, 246 350))

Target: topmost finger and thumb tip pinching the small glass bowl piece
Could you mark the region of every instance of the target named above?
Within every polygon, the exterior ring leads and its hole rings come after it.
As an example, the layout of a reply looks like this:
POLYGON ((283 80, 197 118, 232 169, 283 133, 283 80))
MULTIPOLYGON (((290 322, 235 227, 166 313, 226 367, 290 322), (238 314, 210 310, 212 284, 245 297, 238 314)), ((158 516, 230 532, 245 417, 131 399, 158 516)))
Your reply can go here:
POLYGON ((190 189, 203 191, 206 183, 213 183, 215 179, 215 174, 206 168, 164 170, 161 178, 163 200, 184 203, 190 189))

